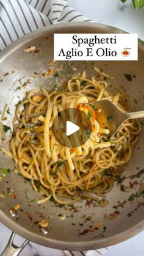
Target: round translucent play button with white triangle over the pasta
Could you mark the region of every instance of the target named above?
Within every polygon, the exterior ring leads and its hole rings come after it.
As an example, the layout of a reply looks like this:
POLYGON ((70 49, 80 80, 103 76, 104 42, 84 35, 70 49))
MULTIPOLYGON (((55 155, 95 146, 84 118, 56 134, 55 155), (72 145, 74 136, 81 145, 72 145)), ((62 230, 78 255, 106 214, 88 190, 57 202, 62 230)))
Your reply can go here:
POLYGON ((88 141, 92 123, 84 111, 68 108, 58 112, 53 121, 52 132, 60 145, 76 148, 88 141))

